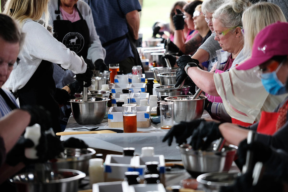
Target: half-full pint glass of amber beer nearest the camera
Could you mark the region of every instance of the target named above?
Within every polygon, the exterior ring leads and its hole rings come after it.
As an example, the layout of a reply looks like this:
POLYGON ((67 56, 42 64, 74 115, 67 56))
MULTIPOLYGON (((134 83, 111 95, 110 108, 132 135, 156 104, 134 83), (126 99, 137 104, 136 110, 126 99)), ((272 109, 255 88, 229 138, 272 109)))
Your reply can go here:
POLYGON ((136 104, 122 105, 124 133, 137 132, 136 104))

